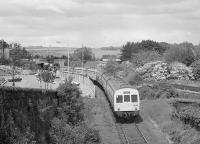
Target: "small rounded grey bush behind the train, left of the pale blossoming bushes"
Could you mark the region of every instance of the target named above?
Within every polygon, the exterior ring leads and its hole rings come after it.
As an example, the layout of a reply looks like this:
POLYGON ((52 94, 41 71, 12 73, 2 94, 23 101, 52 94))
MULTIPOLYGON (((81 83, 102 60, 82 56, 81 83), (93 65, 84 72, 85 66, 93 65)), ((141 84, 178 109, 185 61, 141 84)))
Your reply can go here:
POLYGON ((109 62, 107 62, 104 70, 107 73, 116 76, 117 72, 119 72, 120 70, 122 70, 122 67, 120 66, 120 64, 118 64, 115 61, 109 61, 109 62))

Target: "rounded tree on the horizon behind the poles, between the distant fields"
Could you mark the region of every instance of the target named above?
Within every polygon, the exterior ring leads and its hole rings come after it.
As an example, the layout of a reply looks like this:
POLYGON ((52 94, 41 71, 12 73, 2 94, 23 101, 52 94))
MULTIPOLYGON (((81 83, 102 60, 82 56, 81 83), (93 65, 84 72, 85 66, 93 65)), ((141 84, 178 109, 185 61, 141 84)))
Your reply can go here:
POLYGON ((74 51, 74 55, 77 57, 79 60, 83 60, 83 63, 86 63, 87 61, 94 60, 94 54, 92 53, 92 50, 87 47, 83 47, 80 49, 77 49, 74 51))

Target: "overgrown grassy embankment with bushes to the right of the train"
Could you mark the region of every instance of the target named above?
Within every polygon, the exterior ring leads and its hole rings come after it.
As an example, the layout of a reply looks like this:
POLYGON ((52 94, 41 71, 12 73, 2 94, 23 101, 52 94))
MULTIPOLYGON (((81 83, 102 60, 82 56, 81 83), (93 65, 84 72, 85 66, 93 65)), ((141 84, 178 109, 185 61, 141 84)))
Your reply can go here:
POLYGON ((183 100, 180 93, 171 88, 161 85, 141 88, 141 97, 145 99, 142 101, 141 113, 144 119, 151 121, 166 135, 169 143, 195 143, 199 136, 199 103, 194 104, 191 98, 183 100))

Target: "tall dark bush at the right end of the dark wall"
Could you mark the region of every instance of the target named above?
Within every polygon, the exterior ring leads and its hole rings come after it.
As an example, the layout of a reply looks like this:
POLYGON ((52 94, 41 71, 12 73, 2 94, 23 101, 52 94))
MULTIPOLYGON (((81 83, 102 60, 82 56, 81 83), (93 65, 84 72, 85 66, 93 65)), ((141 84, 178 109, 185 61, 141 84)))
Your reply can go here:
POLYGON ((72 79, 65 80, 65 83, 59 85, 57 91, 59 101, 62 102, 58 108, 59 118, 71 125, 83 121, 81 92, 75 84, 72 84, 72 79))

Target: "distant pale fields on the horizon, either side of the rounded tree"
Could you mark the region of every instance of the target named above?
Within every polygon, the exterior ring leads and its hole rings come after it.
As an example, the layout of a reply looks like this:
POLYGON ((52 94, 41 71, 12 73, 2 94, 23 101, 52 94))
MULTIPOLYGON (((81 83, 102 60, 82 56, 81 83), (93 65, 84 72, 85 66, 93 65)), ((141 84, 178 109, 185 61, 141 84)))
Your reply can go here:
MULTIPOLYGON (((67 55, 67 50, 69 49, 69 53, 73 53, 78 48, 66 48, 66 47, 26 47, 28 51, 30 51, 33 55, 54 55, 54 56, 62 56, 67 55)), ((94 53, 96 58, 101 58, 102 55, 119 55, 120 48, 118 49, 106 49, 106 48, 92 48, 92 52, 94 53)))

